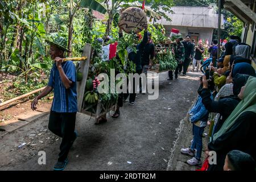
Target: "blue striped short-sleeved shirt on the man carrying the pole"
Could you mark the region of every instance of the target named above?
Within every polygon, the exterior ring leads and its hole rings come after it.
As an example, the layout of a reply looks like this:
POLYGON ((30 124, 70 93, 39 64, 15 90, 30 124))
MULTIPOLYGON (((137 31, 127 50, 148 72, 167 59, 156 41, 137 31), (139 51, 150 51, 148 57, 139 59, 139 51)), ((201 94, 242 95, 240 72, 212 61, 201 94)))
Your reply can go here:
POLYGON ((65 88, 54 63, 48 82, 48 86, 53 88, 54 93, 51 110, 57 113, 75 113, 77 111, 76 67, 72 61, 65 61, 61 65, 65 75, 72 81, 72 85, 69 89, 65 88))

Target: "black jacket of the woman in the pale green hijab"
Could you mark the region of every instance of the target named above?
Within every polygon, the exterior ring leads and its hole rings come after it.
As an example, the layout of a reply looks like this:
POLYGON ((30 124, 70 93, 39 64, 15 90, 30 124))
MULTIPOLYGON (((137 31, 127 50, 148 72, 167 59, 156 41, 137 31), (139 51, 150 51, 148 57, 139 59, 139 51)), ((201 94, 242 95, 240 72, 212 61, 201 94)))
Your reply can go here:
POLYGON ((217 154, 217 164, 210 165, 208 171, 223 171, 226 154, 232 150, 246 152, 256 160, 255 118, 256 113, 246 111, 226 133, 208 144, 208 149, 217 154))

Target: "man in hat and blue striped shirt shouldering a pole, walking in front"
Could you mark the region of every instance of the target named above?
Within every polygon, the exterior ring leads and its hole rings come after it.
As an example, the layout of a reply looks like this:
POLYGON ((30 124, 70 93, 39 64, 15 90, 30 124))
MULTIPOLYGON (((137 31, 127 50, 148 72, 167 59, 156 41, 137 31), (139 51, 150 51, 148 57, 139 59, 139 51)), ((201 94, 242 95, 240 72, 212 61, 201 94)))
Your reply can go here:
POLYGON ((61 171, 68 163, 68 152, 72 147, 77 133, 75 132, 77 112, 76 67, 72 61, 63 61, 67 51, 67 40, 62 37, 49 41, 50 56, 55 61, 51 69, 49 82, 46 88, 35 97, 31 109, 36 109, 38 100, 47 96, 52 90, 54 93, 48 128, 52 133, 62 138, 60 153, 54 170, 61 171))

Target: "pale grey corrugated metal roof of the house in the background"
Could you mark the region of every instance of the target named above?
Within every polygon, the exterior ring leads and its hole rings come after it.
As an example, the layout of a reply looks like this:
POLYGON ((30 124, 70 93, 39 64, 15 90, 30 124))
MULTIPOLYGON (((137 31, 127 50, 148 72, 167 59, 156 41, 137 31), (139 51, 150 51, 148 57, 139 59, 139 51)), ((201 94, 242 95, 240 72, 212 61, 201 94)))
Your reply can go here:
MULTIPOLYGON (((174 13, 166 13, 171 21, 162 17, 160 20, 155 20, 155 23, 183 27, 218 28, 218 15, 214 14, 212 7, 174 6, 171 10, 174 13)), ((221 25, 223 23, 223 15, 221 15, 221 25)))

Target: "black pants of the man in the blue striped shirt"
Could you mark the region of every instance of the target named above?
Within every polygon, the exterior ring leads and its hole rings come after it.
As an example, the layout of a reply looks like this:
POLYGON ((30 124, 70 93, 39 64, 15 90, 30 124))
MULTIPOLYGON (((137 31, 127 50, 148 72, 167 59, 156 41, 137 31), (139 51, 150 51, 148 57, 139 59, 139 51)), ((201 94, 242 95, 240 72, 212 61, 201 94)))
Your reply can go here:
POLYGON ((56 113, 51 111, 48 128, 52 133, 62 138, 58 161, 63 162, 76 138, 76 113, 56 113))

